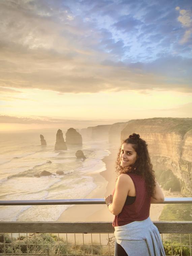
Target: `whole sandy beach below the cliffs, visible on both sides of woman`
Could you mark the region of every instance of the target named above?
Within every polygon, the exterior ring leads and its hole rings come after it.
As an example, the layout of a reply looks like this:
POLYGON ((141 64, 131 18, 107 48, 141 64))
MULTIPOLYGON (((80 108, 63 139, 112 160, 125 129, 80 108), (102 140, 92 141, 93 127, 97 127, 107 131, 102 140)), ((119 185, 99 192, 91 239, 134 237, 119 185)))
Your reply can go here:
MULTIPOLYGON (((109 149, 110 155, 104 157, 102 160, 106 165, 106 170, 100 173, 89 173, 93 177, 97 188, 94 189, 86 198, 104 198, 108 194, 112 194, 115 188, 117 174, 115 172, 115 162, 118 153, 118 147, 114 146, 109 149)), ((165 197, 180 197, 180 193, 171 193, 163 190, 165 197)), ((165 204, 151 204, 150 217, 152 221, 158 221, 159 216, 165 204)), ((113 221, 112 215, 105 204, 95 205, 73 205, 64 211, 58 221, 113 221)))

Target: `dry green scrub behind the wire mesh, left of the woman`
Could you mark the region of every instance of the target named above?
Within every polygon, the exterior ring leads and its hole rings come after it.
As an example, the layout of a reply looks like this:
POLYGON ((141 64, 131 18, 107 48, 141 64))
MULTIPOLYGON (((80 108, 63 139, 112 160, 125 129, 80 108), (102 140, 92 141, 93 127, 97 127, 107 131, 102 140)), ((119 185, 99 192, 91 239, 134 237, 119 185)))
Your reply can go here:
MULTIPOLYGON (((4 235, 0 234, 0 253, 4 253, 4 235)), ((5 234, 5 241, 11 243, 11 238, 8 234, 5 234)), ((5 242, 6 243, 6 242, 5 242)), ((101 248, 102 249, 102 248, 101 248)), ((67 254, 70 255, 88 255, 93 251, 94 255, 100 255, 100 245, 66 245, 66 241, 62 238, 58 238, 56 235, 51 233, 41 233, 26 236, 20 236, 20 238, 12 238, 12 245, 5 246, 5 253, 7 254, 44 254, 44 255, 54 255, 54 254, 67 254), (28 242, 27 242, 28 241, 28 242), (59 242, 59 243, 58 243, 59 242), (27 246, 28 244, 28 246, 27 246)))

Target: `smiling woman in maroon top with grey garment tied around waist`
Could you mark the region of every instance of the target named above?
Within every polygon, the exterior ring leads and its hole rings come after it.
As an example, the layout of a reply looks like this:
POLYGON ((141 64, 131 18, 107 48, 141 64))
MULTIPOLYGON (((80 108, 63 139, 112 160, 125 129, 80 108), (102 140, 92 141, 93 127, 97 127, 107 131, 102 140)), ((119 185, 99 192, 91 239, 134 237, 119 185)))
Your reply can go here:
POLYGON ((119 174, 113 195, 105 197, 115 215, 116 256, 165 256, 150 204, 164 201, 155 179, 147 144, 133 133, 123 141, 116 162, 119 174))

